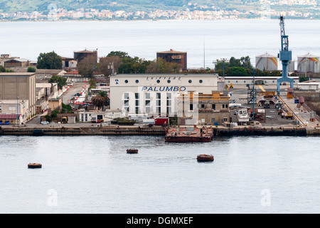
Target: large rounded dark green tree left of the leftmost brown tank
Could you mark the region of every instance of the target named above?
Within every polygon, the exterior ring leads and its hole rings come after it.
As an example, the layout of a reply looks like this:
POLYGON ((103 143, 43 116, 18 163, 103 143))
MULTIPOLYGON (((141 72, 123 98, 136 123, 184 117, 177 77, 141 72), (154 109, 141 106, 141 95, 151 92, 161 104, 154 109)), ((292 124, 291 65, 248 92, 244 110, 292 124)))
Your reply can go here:
POLYGON ((62 58, 54 51, 40 53, 37 62, 38 69, 62 69, 62 58))

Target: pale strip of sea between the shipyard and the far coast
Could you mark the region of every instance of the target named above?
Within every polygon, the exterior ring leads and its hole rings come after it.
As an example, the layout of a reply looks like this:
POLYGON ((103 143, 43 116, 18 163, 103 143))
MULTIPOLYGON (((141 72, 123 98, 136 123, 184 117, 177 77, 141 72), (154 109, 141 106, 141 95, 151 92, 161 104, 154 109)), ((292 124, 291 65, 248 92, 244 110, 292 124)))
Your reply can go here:
MULTIPOLYGON (((279 53, 279 20, 226 21, 51 21, 0 23, 1 53, 36 61, 39 53, 95 50, 98 56, 125 51, 154 60, 157 51, 188 53, 188 67, 213 68, 213 61, 232 56, 279 53)), ((320 21, 285 20, 292 57, 320 55, 320 21)), ((279 67, 281 64, 279 63, 279 67)))

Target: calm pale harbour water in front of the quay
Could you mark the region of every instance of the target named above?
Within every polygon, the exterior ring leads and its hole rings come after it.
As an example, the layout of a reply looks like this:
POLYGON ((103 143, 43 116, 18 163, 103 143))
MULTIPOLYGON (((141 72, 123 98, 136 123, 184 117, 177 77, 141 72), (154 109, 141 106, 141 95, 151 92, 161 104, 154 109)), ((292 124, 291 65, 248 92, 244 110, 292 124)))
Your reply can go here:
POLYGON ((1 136, 1 213, 316 213, 320 139, 1 136), (139 150, 127 154, 128 148, 139 150), (199 154, 213 162, 197 162, 199 154), (30 162, 41 169, 28 169, 30 162))

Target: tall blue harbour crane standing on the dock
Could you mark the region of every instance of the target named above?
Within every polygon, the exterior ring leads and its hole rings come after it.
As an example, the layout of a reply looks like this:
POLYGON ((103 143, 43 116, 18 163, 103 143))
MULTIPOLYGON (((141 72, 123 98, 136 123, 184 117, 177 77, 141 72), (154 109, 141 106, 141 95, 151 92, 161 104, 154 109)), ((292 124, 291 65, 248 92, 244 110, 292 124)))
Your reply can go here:
POLYGON ((288 77, 289 61, 292 60, 292 51, 289 51, 289 38, 284 31, 284 17, 280 16, 281 29, 281 50, 278 58, 282 61, 282 78, 277 79, 277 94, 280 94, 280 83, 289 82, 290 87, 294 88, 293 78, 288 77))

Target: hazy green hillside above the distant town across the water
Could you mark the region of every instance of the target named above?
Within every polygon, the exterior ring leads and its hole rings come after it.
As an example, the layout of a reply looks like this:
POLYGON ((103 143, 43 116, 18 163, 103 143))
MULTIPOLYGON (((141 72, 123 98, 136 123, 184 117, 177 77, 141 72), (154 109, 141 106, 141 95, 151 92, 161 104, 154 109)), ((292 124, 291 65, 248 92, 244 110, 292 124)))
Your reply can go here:
POLYGON ((48 13, 50 7, 65 9, 107 9, 110 11, 155 11, 161 10, 226 10, 261 11, 267 6, 276 11, 298 11, 319 14, 320 0, 0 0, 0 13, 33 12, 48 13), (266 3, 266 2, 270 2, 266 3), (295 4, 291 4, 295 3, 295 4))

